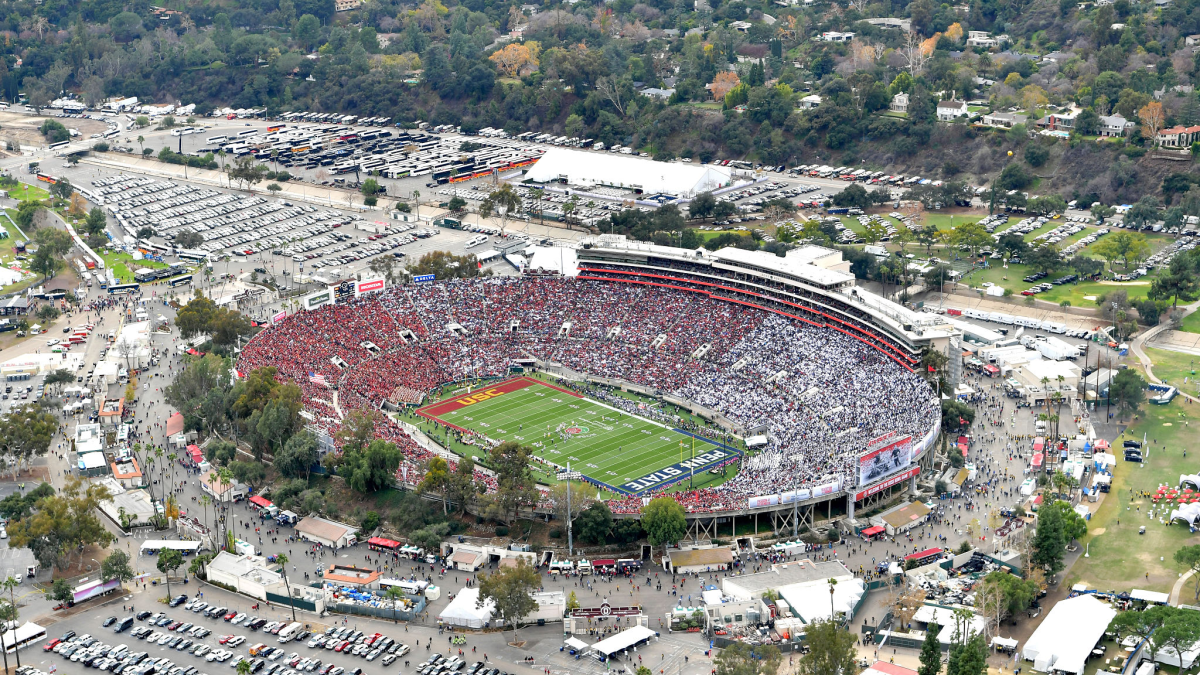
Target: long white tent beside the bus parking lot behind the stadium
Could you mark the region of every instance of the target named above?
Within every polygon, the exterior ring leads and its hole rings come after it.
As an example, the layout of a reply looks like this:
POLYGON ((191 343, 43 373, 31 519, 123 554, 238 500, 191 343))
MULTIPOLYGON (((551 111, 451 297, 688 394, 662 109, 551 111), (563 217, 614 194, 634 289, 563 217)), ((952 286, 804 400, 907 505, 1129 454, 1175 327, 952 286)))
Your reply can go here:
POLYGON ((713 165, 655 162, 628 155, 552 148, 529 168, 528 180, 570 185, 608 185, 641 190, 648 195, 692 197, 730 185, 728 168, 713 165))

